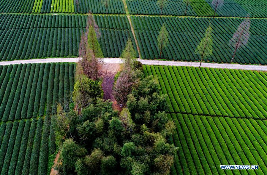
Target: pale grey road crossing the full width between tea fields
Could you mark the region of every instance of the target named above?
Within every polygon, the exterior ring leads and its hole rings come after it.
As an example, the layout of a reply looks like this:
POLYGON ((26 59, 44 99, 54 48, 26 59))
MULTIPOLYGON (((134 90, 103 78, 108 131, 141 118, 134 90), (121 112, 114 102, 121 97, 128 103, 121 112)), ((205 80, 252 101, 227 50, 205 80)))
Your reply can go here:
MULTIPOLYGON (((1 61, 0 65, 10 64, 26 64, 26 63, 42 63, 42 62, 78 62, 81 58, 45 58, 45 59, 31 59, 31 60, 14 60, 1 61)), ((103 58, 106 63, 122 63, 120 58, 103 58)), ((169 66, 192 66, 198 67, 199 62, 184 62, 184 61, 162 61, 162 60, 143 60, 138 59, 143 65, 169 65, 169 66)), ((258 70, 267 71, 267 65, 241 65, 229 63, 210 63, 202 62, 201 67, 206 68, 227 68, 227 69, 242 69, 242 70, 258 70)))

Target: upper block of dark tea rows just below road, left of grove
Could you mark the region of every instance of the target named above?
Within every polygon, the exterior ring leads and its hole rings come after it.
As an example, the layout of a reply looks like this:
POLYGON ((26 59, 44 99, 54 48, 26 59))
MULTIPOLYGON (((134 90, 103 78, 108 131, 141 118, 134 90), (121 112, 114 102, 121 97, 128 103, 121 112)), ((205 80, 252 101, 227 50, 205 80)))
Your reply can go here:
POLYGON ((74 64, 38 63, 0 68, 10 72, 2 71, 6 76, 0 88, 0 97, 3 97, 0 98, 0 120, 4 122, 50 115, 58 102, 64 102, 64 91, 66 98, 73 90, 74 64))

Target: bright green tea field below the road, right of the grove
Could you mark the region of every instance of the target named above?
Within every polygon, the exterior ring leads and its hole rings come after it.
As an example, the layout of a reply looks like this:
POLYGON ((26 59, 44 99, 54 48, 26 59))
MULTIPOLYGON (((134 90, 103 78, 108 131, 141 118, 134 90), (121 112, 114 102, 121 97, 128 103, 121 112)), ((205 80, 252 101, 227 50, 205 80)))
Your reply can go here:
POLYGON ((266 174, 266 72, 148 65, 143 72, 169 97, 177 127, 170 142, 180 148, 171 174, 266 174), (260 168, 220 169, 228 164, 260 168))

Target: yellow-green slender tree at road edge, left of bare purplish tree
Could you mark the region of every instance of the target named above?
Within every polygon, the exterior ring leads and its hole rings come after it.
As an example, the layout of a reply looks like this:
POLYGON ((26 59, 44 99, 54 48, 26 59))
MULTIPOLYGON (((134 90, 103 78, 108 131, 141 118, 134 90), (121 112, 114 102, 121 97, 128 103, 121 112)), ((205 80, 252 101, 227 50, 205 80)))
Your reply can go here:
POLYGON ((195 49, 196 54, 198 54, 201 57, 199 68, 203 61, 203 58, 206 58, 212 55, 213 41, 212 41, 211 32, 212 32, 212 28, 211 28, 211 25, 209 25, 205 31, 205 36, 201 39, 198 47, 195 49))

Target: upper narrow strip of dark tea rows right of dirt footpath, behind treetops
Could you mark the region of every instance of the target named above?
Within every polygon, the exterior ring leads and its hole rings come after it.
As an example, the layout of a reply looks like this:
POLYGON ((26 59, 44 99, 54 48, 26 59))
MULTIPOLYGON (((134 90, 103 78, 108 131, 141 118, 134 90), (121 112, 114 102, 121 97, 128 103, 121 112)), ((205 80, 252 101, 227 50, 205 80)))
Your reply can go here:
MULTIPOLYGON (((212 33, 230 34, 236 32, 244 19, 241 18, 204 18, 204 17, 150 17, 131 16, 134 30, 159 31, 162 24, 168 31, 205 33, 209 22, 212 24, 212 33)), ((263 35, 267 33, 266 19, 250 19, 250 34, 263 35)))

